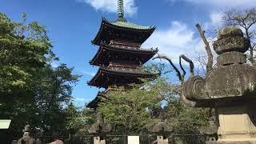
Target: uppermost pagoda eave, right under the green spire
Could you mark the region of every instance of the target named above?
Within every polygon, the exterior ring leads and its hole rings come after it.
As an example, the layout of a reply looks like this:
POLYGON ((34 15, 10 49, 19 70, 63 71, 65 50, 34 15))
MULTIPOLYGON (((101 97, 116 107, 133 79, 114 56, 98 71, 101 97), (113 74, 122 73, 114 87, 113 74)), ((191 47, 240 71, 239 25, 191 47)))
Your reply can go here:
POLYGON ((135 35, 144 35, 142 39, 138 40, 138 42, 143 43, 154 32, 155 28, 156 28, 155 26, 137 26, 130 22, 126 22, 126 23, 124 22, 122 26, 122 23, 120 24, 120 22, 119 23, 109 22, 106 20, 106 18, 102 18, 102 24, 100 26, 100 29, 98 30, 98 34, 96 35, 94 40, 92 40, 91 42, 94 45, 100 46, 100 43, 102 41, 108 42, 110 40, 106 38, 106 35, 110 34, 108 30, 114 30, 114 31, 120 30, 122 32, 124 31, 130 32, 135 35))

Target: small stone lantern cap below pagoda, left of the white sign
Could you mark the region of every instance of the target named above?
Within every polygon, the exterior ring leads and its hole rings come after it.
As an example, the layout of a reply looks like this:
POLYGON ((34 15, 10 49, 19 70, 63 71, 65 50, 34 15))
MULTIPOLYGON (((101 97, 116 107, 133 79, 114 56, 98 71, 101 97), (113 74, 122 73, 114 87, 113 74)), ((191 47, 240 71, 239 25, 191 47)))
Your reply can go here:
POLYGON ((109 133, 111 130, 111 126, 107 125, 103 118, 102 114, 98 114, 97 122, 95 122, 92 126, 90 126, 90 129, 88 130, 90 134, 106 134, 109 133))

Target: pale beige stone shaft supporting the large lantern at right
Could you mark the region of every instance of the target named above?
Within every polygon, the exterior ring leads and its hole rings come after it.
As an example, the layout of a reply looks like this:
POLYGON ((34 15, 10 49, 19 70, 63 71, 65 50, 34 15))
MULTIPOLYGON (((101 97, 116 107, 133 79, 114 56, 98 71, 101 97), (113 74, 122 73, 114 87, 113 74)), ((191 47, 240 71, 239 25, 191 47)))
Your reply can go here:
POLYGON ((256 143, 255 114, 255 105, 218 108, 218 141, 256 143))

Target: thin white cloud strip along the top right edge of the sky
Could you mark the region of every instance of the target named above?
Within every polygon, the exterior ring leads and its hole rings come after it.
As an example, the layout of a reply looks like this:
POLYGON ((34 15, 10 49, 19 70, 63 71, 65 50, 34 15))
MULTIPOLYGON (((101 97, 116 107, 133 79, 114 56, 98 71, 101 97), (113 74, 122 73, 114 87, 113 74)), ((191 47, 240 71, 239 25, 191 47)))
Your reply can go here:
POLYGON ((170 2, 186 1, 198 4, 208 4, 218 7, 226 6, 239 6, 239 7, 250 7, 256 6, 256 0, 169 0, 170 2))

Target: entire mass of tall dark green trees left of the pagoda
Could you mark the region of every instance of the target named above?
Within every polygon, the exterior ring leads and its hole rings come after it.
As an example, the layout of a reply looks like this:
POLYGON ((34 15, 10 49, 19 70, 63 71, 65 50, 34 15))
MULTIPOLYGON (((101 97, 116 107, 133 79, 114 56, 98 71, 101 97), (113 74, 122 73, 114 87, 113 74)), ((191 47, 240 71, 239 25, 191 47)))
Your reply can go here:
POLYGON ((57 61, 45 26, 38 22, 13 22, 0 14, 0 118, 12 119, 10 133, 22 134, 29 123, 51 133, 66 125, 66 107, 79 76, 57 61))

